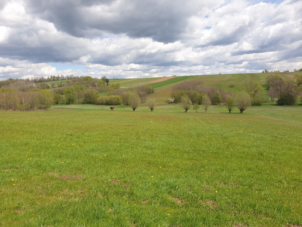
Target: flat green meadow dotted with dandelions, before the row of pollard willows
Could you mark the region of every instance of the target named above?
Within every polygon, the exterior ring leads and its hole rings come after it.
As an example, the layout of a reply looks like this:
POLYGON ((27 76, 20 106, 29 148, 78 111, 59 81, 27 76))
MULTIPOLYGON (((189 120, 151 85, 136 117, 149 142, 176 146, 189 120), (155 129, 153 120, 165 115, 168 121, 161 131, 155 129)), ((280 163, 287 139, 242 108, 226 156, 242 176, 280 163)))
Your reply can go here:
POLYGON ((301 106, 59 107, 0 111, 1 226, 302 224, 301 106))

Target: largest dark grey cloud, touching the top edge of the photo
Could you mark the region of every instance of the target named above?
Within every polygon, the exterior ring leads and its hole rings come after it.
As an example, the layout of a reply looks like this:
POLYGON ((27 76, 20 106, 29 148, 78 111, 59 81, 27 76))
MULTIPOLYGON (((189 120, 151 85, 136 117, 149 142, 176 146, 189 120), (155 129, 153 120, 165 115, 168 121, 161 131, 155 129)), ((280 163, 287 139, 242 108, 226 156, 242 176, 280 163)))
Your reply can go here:
POLYGON ((164 43, 178 40, 188 18, 205 5, 195 0, 28 0, 26 4, 31 14, 52 22, 59 31, 72 36, 102 36, 107 32, 134 38, 150 37, 164 43))

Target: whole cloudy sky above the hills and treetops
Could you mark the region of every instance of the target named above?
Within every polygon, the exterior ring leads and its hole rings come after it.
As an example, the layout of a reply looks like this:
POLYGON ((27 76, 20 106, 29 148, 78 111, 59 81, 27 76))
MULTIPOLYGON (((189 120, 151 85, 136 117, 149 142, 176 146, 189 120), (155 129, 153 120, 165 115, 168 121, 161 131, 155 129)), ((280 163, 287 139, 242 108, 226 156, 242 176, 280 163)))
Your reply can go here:
POLYGON ((301 0, 0 0, 0 80, 302 67, 301 0))

